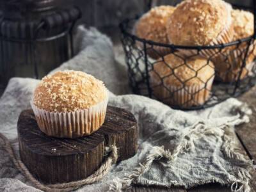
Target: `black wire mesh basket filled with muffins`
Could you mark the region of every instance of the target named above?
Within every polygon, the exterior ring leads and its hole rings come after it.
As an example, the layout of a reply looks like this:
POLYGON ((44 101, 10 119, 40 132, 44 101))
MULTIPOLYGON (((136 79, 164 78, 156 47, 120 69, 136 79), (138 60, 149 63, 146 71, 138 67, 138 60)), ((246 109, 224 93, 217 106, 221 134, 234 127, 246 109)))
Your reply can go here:
MULTIPOLYGON (((253 7, 255 15, 254 1, 253 7)), ((255 85, 255 35, 228 44, 209 46, 161 44, 133 34, 134 24, 139 18, 125 19, 120 24, 129 81, 134 93, 157 99, 175 109, 189 110, 208 108, 230 97, 238 97, 255 85), (168 56, 161 54, 160 49, 168 52, 168 56), (204 56, 207 60, 205 65, 196 69, 189 67, 189 61, 198 56, 204 56), (172 58, 179 60, 179 65, 168 65, 166 60, 172 58), (160 63, 162 69, 157 66, 160 63), (212 63, 214 74, 202 81, 198 71, 207 65, 212 67, 212 63), (182 65, 195 75, 188 79, 177 76, 177 70, 182 65), (193 83, 188 86, 195 79, 202 81, 200 86, 193 83), (179 86, 173 87, 170 81, 178 81, 179 86)))

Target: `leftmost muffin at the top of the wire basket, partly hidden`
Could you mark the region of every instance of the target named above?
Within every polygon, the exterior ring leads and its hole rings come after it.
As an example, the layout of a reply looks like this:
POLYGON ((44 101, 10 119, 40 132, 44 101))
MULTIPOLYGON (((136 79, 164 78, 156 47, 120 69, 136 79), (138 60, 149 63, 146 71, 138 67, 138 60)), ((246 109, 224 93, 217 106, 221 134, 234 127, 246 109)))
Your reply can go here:
MULTIPOLYGON (((175 8, 173 6, 157 6, 152 8, 149 12, 145 13, 134 26, 135 34, 146 40, 168 44, 166 23, 174 10, 175 8)), ((137 44, 143 48, 141 42, 137 42, 137 44)), ((147 47, 147 54, 154 59, 164 56, 170 51, 171 50, 168 48, 157 45, 147 47)))

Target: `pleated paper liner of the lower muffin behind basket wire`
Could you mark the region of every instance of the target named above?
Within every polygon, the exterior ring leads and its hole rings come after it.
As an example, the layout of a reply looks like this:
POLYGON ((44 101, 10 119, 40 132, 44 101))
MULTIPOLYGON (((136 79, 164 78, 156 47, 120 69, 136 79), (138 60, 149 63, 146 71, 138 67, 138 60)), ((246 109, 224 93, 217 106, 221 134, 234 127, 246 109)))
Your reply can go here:
MULTIPOLYGON (((190 86, 174 86, 154 83, 152 79, 152 90, 154 95, 165 104, 181 108, 200 106, 207 101, 211 95, 211 88, 214 77, 207 83, 192 84, 190 86)), ((159 83, 159 82, 158 82, 159 83)))

